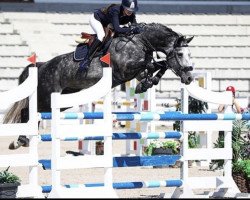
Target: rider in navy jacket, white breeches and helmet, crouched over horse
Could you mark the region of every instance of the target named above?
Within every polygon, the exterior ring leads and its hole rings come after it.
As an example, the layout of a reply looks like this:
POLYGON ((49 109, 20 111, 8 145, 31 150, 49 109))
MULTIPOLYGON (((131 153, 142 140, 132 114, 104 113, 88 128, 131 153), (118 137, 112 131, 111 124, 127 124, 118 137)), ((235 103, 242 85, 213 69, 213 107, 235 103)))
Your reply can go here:
POLYGON ((95 50, 101 46, 105 36, 104 27, 112 24, 115 33, 137 34, 139 28, 120 27, 130 23, 136 23, 135 13, 138 10, 137 0, 122 0, 121 5, 111 4, 108 7, 98 9, 91 15, 89 23, 97 37, 89 48, 89 58, 92 58, 95 50))

